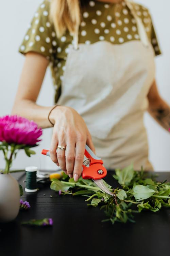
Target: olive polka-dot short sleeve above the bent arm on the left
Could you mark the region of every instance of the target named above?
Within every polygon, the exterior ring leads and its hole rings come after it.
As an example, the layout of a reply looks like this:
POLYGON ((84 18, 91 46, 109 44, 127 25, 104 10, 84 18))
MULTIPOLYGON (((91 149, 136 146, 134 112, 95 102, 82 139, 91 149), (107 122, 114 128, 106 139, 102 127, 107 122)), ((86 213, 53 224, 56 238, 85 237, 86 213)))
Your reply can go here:
POLYGON ((32 18, 29 29, 19 47, 19 52, 26 54, 30 51, 42 54, 47 59, 52 57, 52 24, 49 20, 49 1, 40 4, 32 18))

